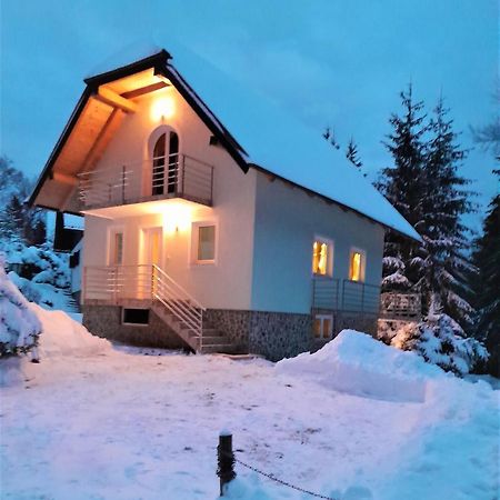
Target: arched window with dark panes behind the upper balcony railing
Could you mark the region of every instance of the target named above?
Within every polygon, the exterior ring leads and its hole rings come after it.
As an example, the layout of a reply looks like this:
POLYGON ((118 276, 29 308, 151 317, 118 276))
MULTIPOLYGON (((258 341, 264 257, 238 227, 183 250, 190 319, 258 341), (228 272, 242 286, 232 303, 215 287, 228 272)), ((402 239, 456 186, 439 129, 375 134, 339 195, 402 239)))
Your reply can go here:
POLYGON ((152 194, 177 192, 179 181, 179 136, 162 133, 154 143, 152 153, 152 194))

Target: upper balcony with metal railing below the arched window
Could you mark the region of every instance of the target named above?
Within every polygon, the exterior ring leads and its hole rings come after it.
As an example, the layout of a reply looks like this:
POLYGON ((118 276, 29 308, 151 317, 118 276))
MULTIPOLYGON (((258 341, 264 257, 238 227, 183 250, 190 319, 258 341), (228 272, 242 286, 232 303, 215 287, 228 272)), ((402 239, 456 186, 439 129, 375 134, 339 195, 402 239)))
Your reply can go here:
POLYGON ((78 194, 81 210, 182 198, 211 207, 213 166, 188 154, 168 161, 140 161, 81 172, 78 194))

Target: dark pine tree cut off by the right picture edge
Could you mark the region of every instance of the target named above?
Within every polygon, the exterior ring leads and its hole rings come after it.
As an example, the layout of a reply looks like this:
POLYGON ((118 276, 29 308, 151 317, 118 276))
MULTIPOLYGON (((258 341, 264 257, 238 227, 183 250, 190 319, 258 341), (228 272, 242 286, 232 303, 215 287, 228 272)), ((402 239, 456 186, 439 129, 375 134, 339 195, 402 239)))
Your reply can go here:
MULTIPOLYGON (((500 170, 494 170, 500 181, 500 170)), ((476 241, 473 263, 478 269, 473 283, 477 337, 490 351, 489 371, 500 374, 500 193, 491 200, 483 233, 476 241)))

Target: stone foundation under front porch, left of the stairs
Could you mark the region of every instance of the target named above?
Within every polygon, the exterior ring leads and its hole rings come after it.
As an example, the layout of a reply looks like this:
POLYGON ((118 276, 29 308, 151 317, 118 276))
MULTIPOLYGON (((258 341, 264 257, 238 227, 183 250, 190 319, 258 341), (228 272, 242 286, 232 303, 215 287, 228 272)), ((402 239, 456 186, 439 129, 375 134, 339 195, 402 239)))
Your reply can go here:
POLYGON ((149 324, 129 326, 121 323, 121 309, 119 306, 82 306, 83 326, 96 336, 129 346, 189 349, 153 311, 149 311, 149 324))

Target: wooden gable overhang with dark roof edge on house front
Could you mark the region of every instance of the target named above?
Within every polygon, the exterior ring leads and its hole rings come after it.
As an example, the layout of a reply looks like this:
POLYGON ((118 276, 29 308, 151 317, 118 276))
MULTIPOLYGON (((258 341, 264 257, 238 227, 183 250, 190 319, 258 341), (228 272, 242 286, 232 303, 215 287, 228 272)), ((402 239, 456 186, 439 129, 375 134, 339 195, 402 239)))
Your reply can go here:
POLYGON ((131 64, 87 78, 87 84, 34 190, 30 206, 79 213, 78 173, 96 168, 126 113, 134 112, 133 99, 172 84, 203 123, 247 172, 247 153, 201 98, 170 63, 166 50, 131 64))

